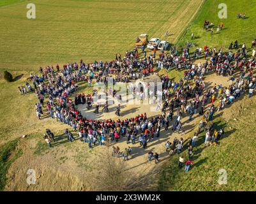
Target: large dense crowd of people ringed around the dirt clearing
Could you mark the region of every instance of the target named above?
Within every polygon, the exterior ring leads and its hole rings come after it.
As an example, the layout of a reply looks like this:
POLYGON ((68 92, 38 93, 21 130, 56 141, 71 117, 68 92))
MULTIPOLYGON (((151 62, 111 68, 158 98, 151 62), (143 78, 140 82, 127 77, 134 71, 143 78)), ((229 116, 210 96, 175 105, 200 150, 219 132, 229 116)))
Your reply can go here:
MULTIPOLYGON (((205 22, 205 29, 208 29, 209 22, 205 22)), ((223 27, 223 25, 222 25, 223 27)), ((221 28, 222 28, 221 27, 221 28)), ((177 47, 171 48, 170 52, 161 52, 159 59, 155 59, 154 55, 142 53, 139 57, 138 48, 134 48, 131 52, 126 52, 123 59, 121 55, 116 55, 116 59, 110 62, 93 62, 86 64, 80 60, 80 64, 76 62, 63 65, 63 69, 56 65, 40 68, 40 77, 35 73, 31 74, 29 80, 33 83, 33 87, 26 82, 26 85, 19 87, 21 94, 27 92, 35 92, 38 97, 38 103, 35 104, 36 115, 41 119, 43 112, 48 112, 52 119, 57 122, 69 125, 73 131, 78 133, 82 142, 87 143, 89 148, 96 145, 107 145, 110 143, 126 140, 126 143, 132 146, 139 142, 143 149, 147 148, 147 143, 153 142, 155 138, 160 137, 160 132, 171 129, 173 133, 183 133, 184 127, 181 119, 188 116, 188 120, 193 120, 197 113, 202 116, 199 122, 199 129, 192 138, 186 143, 188 150, 188 160, 185 163, 185 171, 192 166, 193 147, 197 143, 197 139, 202 131, 206 132, 205 144, 215 144, 220 140, 224 133, 224 129, 215 129, 213 123, 213 115, 219 112, 225 106, 234 103, 236 99, 241 98, 244 93, 248 96, 253 95, 256 87, 256 78, 253 76, 255 68, 254 56, 248 57, 246 54, 245 43, 241 50, 233 52, 237 49, 237 41, 230 44, 229 51, 224 51, 221 47, 219 50, 205 46, 197 48, 190 54, 190 44, 178 52, 177 47), (143 57, 144 54, 144 57, 143 57), (195 59, 204 59, 204 63, 195 64, 195 59), (207 60, 208 57, 208 60, 207 60), (161 115, 156 117, 147 117, 146 113, 141 113, 130 119, 108 119, 97 120, 87 119, 77 108, 79 104, 87 103, 87 108, 93 106, 93 95, 76 94, 73 100, 71 94, 79 88, 79 82, 87 83, 91 87, 93 80, 95 82, 103 82, 107 84, 107 77, 112 77, 115 82, 130 82, 138 78, 151 75, 158 69, 173 69, 183 71, 184 77, 175 82, 167 75, 161 77, 163 91, 156 94, 157 98, 163 100, 163 105, 158 105, 161 115), (216 75, 229 76, 229 87, 223 87, 222 84, 214 84, 213 87, 206 89, 204 79, 209 73, 216 75), (234 77, 234 73, 239 73, 238 77, 234 77), (45 104, 45 98, 47 98, 45 104), (216 101, 216 103, 215 103, 216 101), (46 106, 45 109, 43 109, 46 106), (169 126, 171 126, 169 128, 169 126)), ((98 107, 96 105, 97 112, 98 107)), ((103 110, 109 112, 108 105, 105 104, 103 110)), ((117 106, 116 115, 120 116, 120 106, 117 106)), ((73 142, 75 138, 69 129, 64 130, 67 140, 73 142)), ((164 134, 164 133, 163 133, 164 134)), ((54 142, 54 134, 47 129, 44 134, 45 142, 52 147, 54 142)), ((128 160, 128 156, 132 155, 132 148, 126 148, 123 152, 119 147, 111 146, 113 155, 124 157, 128 160)), ((174 141, 165 144, 167 152, 170 155, 179 154, 184 150, 184 140, 174 138, 174 141)), ((148 161, 154 158, 158 163, 159 155, 156 152, 148 153, 148 161)), ((179 166, 184 163, 184 158, 179 157, 179 166)))

